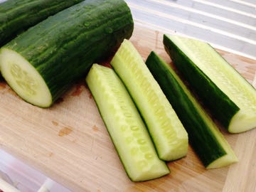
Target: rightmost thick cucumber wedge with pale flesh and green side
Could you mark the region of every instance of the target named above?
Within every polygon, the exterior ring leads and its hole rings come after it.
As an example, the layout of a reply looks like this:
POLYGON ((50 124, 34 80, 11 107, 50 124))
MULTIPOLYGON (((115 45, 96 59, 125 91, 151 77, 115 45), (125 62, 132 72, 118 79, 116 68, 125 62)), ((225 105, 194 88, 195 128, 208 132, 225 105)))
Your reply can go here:
POLYGON ((164 35, 164 47, 184 79, 230 133, 256 127, 256 90, 208 43, 164 35))

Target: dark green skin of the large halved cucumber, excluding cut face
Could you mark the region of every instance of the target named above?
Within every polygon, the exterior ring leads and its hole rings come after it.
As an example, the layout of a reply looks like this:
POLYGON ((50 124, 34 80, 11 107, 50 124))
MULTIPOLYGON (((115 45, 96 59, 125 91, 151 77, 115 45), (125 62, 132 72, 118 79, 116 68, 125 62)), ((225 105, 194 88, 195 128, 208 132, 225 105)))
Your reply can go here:
POLYGON ((54 102, 92 63, 114 53, 133 28, 124 1, 88 0, 50 16, 4 48, 15 50, 38 70, 54 102))

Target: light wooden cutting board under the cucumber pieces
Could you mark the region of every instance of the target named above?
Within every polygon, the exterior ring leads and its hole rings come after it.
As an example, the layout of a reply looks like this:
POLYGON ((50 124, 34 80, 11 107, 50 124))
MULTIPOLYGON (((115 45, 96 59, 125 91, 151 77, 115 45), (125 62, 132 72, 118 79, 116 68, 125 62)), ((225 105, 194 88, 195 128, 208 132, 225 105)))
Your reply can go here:
MULTIPOLYGON (((159 31, 135 26, 131 41, 144 59, 154 50, 171 62, 159 31)), ((256 60, 220 53, 252 83, 256 60)), ((83 80, 48 109, 23 102, 0 81, 0 148, 72 191, 256 191, 256 129, 223 134, 237 164, 206 170, 190 147, 185 158, 168 163, 168 176, 134 183, 83 80)))

